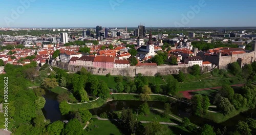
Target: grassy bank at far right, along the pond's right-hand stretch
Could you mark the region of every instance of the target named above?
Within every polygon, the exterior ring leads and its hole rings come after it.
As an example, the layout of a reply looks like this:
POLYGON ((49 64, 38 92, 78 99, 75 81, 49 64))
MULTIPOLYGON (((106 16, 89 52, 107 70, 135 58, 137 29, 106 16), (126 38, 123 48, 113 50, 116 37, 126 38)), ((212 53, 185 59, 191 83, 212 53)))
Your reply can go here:
POLYGON ((241 112, 246 111, 248 109, 249 108, 244 107, 244 108, 242 108, 240 110, 234 110, 234 111, 232 111, 230 114, 228 114, 226 116, 224 116, 221 113, 210 113, 210 112, 208 112, 207 115, 203 116, 203 118, 212 120, 212 121, 214 121, 216 123, 222 123, 222 122, 224 122, 224 121, 226 121, 226 120, 228 120, 228 119, 230 119, 230 118, 232 118, 232 117, 234 117, 236 115, 239 115, 241 112))

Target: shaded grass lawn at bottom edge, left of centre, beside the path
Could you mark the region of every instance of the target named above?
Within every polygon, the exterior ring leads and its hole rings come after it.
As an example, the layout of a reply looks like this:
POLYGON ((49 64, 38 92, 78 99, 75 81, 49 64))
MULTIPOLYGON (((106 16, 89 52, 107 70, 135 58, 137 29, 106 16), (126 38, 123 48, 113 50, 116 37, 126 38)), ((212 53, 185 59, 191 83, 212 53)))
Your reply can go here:
POLYGON ((86 128, 88 130, 88 134, 122 134, 119 129, 111 123, 111 121, 101 121, 97 120, 88 125, 86 128), (99 127, 94 127, 94 125, 98 125, 99 127))

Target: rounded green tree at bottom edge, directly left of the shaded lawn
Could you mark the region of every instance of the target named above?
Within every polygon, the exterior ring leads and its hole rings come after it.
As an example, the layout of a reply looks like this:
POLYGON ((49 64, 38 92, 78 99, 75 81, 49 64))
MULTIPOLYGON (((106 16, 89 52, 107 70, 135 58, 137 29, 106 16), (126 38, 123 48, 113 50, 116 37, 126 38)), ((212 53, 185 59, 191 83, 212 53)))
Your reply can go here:
POLYGON ((62 130, 62 135, 83 134, 82 125, 77 119, 71 119, 62 130))

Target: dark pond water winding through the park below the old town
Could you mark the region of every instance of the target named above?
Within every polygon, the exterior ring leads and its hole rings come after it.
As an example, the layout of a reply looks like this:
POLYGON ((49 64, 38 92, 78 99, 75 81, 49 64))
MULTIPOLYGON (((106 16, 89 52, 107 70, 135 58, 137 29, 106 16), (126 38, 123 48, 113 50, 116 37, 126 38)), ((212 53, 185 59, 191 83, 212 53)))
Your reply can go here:
MULTIPOLYGON (((63 117, 61 116, 61 113, 59 111, 59 103, 56 100, 57 94, 52 93, 52 92, 46 92, 46 104, 43 109, 43 113, 46 117, 46 119, 50 119, 51 122, 57 121, 57 120, 65 120, 68 117, 63 117)), ((140 104, 142 104, 142 101, 110 101, 104 105, 102 105, 99 108, 94 108, 90 109, 90 112, 92 115, 100 115, 103 112, 108 113, 109 111, 118 111, 122 110, 122 108, 127 108, 130 107, 132 109, 137 109, 140 104)), ((158 109, 164 109, 164 103, 163 102, 158 102, 158 101, 148 101, 148 105, 150 107, 158 108, 158 109)), ((190 115, 190 113, 187 113, 188 110, 186 109, 187 104, 181 103, 181 102, 175 102, 172 103, 172 113, 176 116, 179 116, 181 118, 188 117, 190 119, 190 122, 193 122, 199 126, 203 126, 204 124, 209 124, 212 126, 217 127, 223 127, 226 126, 228 129, 233 129, 239 121, 243 121, 246 118, 256 118, 256 108, 250 109, 244 113, 240 113, 239 115, 230 118, 229 120, 217 124, 213 121, 210 121, 208 119, 204 119, 201 117, 196 117, 193 115, 190 115)))

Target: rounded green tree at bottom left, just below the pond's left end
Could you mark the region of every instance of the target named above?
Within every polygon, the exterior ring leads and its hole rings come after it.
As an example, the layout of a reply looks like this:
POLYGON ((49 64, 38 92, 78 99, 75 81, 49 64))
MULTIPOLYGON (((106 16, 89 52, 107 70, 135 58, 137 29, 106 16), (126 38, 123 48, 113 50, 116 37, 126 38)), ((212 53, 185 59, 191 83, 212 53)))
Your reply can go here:
POLYGON ((47 131, 49 135, 60 135, 62 129, 64 128, 64 122, 55 121, 47 126, 47 131))

